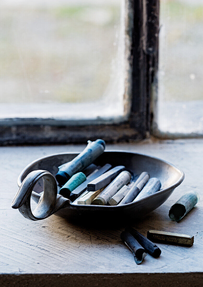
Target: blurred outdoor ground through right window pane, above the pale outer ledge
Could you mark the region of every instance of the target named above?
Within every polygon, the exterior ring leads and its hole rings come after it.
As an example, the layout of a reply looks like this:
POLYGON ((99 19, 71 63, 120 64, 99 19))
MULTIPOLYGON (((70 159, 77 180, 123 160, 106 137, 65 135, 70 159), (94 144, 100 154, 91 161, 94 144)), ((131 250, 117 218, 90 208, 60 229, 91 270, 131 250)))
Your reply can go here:
POLYGON ((203 99, 203 0, 160 0, 159 100, 203 99))

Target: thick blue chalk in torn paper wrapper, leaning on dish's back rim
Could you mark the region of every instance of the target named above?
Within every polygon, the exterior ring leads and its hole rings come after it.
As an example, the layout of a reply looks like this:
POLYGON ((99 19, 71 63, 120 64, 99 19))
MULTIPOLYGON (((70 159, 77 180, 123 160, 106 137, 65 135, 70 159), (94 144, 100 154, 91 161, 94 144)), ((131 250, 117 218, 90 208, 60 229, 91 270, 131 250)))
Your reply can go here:
POLYGON ((97 139, 96 141, 88 141, 87 147, 78 154, 73 160, 59 166, 59 171, 56 174, 56 180, 59 185, 64 185, 73 174, 82 171, 89 164, 100 156, 105 149, 105 141, 97 139))

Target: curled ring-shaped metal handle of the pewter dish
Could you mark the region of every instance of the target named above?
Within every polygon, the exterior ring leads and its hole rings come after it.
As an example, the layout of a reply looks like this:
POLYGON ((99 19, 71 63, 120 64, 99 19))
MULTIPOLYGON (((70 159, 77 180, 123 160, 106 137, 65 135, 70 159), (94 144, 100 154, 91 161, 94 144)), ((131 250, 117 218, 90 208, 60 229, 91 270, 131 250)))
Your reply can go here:
POLYGON ((57 183, 54 176, 46 170, 34 170, 24 179, 14 200, 12 208, 19 209, 20 213, 30 220, 41 220, 49 217, 58 210, 67 207, 70 199, 57 194, 57 183), (33 191, 39 179, 43 179, 44 192, 42 195, 33 191), (39 198, 35 210, 31 210, 31 195, 39 198))

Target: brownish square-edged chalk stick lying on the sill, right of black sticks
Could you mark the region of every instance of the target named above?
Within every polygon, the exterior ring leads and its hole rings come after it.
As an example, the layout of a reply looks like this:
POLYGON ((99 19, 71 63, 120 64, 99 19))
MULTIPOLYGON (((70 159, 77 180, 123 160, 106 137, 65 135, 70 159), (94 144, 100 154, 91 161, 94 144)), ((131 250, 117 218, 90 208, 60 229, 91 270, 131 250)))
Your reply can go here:
POLYGON ((171 243, 185 246, 192 246, 194 243, 194 236, 158 230, 149 230, 147 232, 147 238, 153 242, 171 243))

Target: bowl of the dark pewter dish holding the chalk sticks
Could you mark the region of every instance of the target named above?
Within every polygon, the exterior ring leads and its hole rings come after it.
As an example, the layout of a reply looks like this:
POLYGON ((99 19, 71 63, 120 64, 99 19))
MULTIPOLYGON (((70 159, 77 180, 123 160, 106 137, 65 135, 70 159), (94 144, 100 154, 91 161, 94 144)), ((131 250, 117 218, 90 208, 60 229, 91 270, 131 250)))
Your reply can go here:
MULTIPOLYGON (((69 162, 77 155, 78 153, 74 152, 58 153, 42 157, 31 162, 21 172, 18 178, 18 185, 20 186, 26 176, 34 170, 47 170, 53 176, 55 176, 55 174, 58 172, 58 166, 69 162)), ((180 185, 184 179, 184 173, 182 170, 173 164, 159 158, 137 154, 134 152, 118 150, 105 151, 101 156, 99 156, 99 158, 97 158, 97 160, 95 160, 94 163, 100 166, 110 163, 112 167, 117 165, 125 165, 125 167, 131 170, 134 175, 147 171, 150 174, 150 177, 157 177, 160 180, 161 190, 140 199, 137 202, 119 206, 73 205, 71 204, 70 200, 65 200, 64 197, 61 196, 63 203, 61 203, 61 201, 59 203, 58 201, 57 206, 55 203, 55 207, 52 208, 52 212, 47 214, 45 217, 41 216, 41 218, 29 219, 43 219, 55 213, 58 216, 67 218, 68 220, 79 220, 79 222, 84 220, 87 222, 88 220, 88 222, 96 221, 98 223, 99 221, 102 221, 103 223, 106 222, 107 224, 107 222, 111 223, 114 220, 116 220, 116 222, 123 220, 125 222, 135 220, 136 218, 141 218, 149 212, 152 212, 162 203, 164 203, 164 201, 166 201, 174 189, 180 185)), ((43 181, 42 179, 37 179, 35 182, 36 184, 33 188, 34 192, 32 192, 31 198, 34 199, 35 202, 38 202, 40 197, 39 195, 36 196, 36 194, 43 191, 43 181)), ((24 205, 24 208, 25 207, 27 208, 27 206, 24 205)), ((25 216, 25 214, 22 215, 25 216)))

